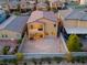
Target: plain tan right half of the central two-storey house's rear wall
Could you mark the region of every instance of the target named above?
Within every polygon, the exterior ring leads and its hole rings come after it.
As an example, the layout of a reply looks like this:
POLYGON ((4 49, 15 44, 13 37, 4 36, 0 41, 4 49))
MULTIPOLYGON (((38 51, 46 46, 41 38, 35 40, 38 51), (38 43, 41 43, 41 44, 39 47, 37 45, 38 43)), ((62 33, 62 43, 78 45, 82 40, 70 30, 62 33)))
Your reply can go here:
POLYGON ((55 32, 55 35, 57 35, 57 22, 54 22, 54 21, 51 21, 51 20, 47 20, 47 19, 41 19, 40 21, 43 21, 45 23, 45 32, 48 33, 48 36, 53 36, 52 35, 52 32, 55 32), (54 26, 54 24, 56 24, 56 26, 54 26))

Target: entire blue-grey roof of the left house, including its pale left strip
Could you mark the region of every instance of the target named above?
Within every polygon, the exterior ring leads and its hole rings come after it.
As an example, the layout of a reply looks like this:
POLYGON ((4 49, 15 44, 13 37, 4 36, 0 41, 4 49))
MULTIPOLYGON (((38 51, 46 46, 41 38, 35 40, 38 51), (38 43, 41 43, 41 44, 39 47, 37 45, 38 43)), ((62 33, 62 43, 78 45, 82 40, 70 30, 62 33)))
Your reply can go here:
POLYGON ((23 28, 28 22, 29 17, 10 17, 6 22, 0 25, 0 30, 9 30, 22 33, 23 28))

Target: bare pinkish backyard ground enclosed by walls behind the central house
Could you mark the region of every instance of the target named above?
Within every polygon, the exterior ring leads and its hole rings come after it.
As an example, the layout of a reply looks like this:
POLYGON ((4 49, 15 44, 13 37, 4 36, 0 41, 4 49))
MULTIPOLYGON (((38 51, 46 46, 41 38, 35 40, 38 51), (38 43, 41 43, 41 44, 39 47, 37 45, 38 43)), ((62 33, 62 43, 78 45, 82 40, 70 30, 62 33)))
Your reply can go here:
POLYGON ((25 41, 21 47, 21 53, 64 53, 63 43, 59 37, 45 37, 33 41, 25 41))

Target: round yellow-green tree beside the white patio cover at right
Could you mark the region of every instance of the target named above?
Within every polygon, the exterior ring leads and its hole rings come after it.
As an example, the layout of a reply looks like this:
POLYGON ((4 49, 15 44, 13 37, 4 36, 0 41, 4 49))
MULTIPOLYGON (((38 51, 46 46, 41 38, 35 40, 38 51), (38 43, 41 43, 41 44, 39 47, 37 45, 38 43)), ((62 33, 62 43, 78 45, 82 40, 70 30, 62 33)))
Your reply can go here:
POLYGON ((67 41, 67 47, 70 52, 81 51, 81 43, 79 42, 79 37, 75 34, 69 35, 67 41))

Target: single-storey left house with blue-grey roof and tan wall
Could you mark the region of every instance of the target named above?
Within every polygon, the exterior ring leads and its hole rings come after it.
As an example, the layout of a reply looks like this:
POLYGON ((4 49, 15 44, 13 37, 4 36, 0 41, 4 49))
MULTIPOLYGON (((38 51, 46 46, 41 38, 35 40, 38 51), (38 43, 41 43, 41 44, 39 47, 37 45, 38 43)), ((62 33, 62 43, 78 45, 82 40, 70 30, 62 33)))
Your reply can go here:
POLYGON ((0 25, 0 40, 21 40, 29 17, 11 18, 0 25))

